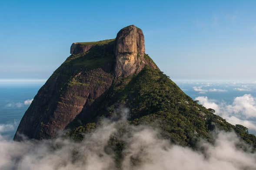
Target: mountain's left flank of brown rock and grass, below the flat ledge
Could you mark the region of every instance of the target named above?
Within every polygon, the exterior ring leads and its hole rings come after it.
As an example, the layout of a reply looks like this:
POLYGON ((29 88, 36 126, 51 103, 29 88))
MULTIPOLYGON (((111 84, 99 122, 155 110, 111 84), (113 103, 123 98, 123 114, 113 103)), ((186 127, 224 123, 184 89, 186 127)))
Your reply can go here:
POLYGON ((34 97, 14 140, 22 140, 22 135, 30 139, 55 137, 110 88, 114 59, 113 41, 67 58, 34 97))

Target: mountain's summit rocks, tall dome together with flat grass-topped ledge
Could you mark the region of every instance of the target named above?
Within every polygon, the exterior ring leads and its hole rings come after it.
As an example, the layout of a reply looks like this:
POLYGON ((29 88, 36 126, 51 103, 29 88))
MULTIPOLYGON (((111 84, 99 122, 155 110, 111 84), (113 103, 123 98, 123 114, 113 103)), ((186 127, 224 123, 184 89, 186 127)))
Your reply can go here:
POLYGON ((93 46, 101 46, 112 41, 115 41, 113 53, 116 59, 116 77, 128 77, 137 74, 145 65, 150 65, 154 69, 158 69, 153 61, 145 58, 143 31, 134 25, 126 26, 121 29, 117 33, 116 39, 106 39, 97 42, 74 42, 70 48, 70 53, 76 55, 87 52, 93 46))

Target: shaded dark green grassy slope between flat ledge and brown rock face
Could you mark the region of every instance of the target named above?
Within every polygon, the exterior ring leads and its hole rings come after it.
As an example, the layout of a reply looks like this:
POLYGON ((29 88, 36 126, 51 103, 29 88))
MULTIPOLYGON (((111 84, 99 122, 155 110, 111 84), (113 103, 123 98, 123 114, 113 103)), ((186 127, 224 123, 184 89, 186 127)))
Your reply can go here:
MULTIPOLYGON (((86 72, 93 69, 104 68, 105 65, 111 65, 114 63, 115 56, 113 54, 113 41, 104 40, 101 41, 101 46, 93 46, 89 51, 85 53, 72 54, 65 62, 51 75, 47 80, 47 84, 54 84, 58 81, 57 89, 60 89, 59 96, 66 91, 66 88, 73 85, 88 84, 81 83, 79 79, 76 79, 76 75, 80 72, 86 72), (106 44, 103 44, 105 42, 106 44)), ((47 88, 47 87, 42 87, 47 88)))

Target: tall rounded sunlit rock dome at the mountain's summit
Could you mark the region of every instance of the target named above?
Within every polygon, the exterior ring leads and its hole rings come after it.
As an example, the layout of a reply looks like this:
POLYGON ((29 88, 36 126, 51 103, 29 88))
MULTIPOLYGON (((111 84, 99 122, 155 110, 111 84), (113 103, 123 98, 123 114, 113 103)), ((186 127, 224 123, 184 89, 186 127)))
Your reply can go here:
POLYGON ((144 35, 140 28, 131 25, 119 31, 116 36, 116 77, 128 77, 139 73, 145 65, 156 65, 146 61, 144 35))

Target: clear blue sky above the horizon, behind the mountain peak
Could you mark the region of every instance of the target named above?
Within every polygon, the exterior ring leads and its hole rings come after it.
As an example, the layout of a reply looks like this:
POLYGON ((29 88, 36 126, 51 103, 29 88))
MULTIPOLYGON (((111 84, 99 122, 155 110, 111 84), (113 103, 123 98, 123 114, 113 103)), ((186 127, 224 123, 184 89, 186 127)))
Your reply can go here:
POLYGON ((47 79, 131 24, 173 79, 256 79, 256 0, 0 0, 0 79, 47 79))

